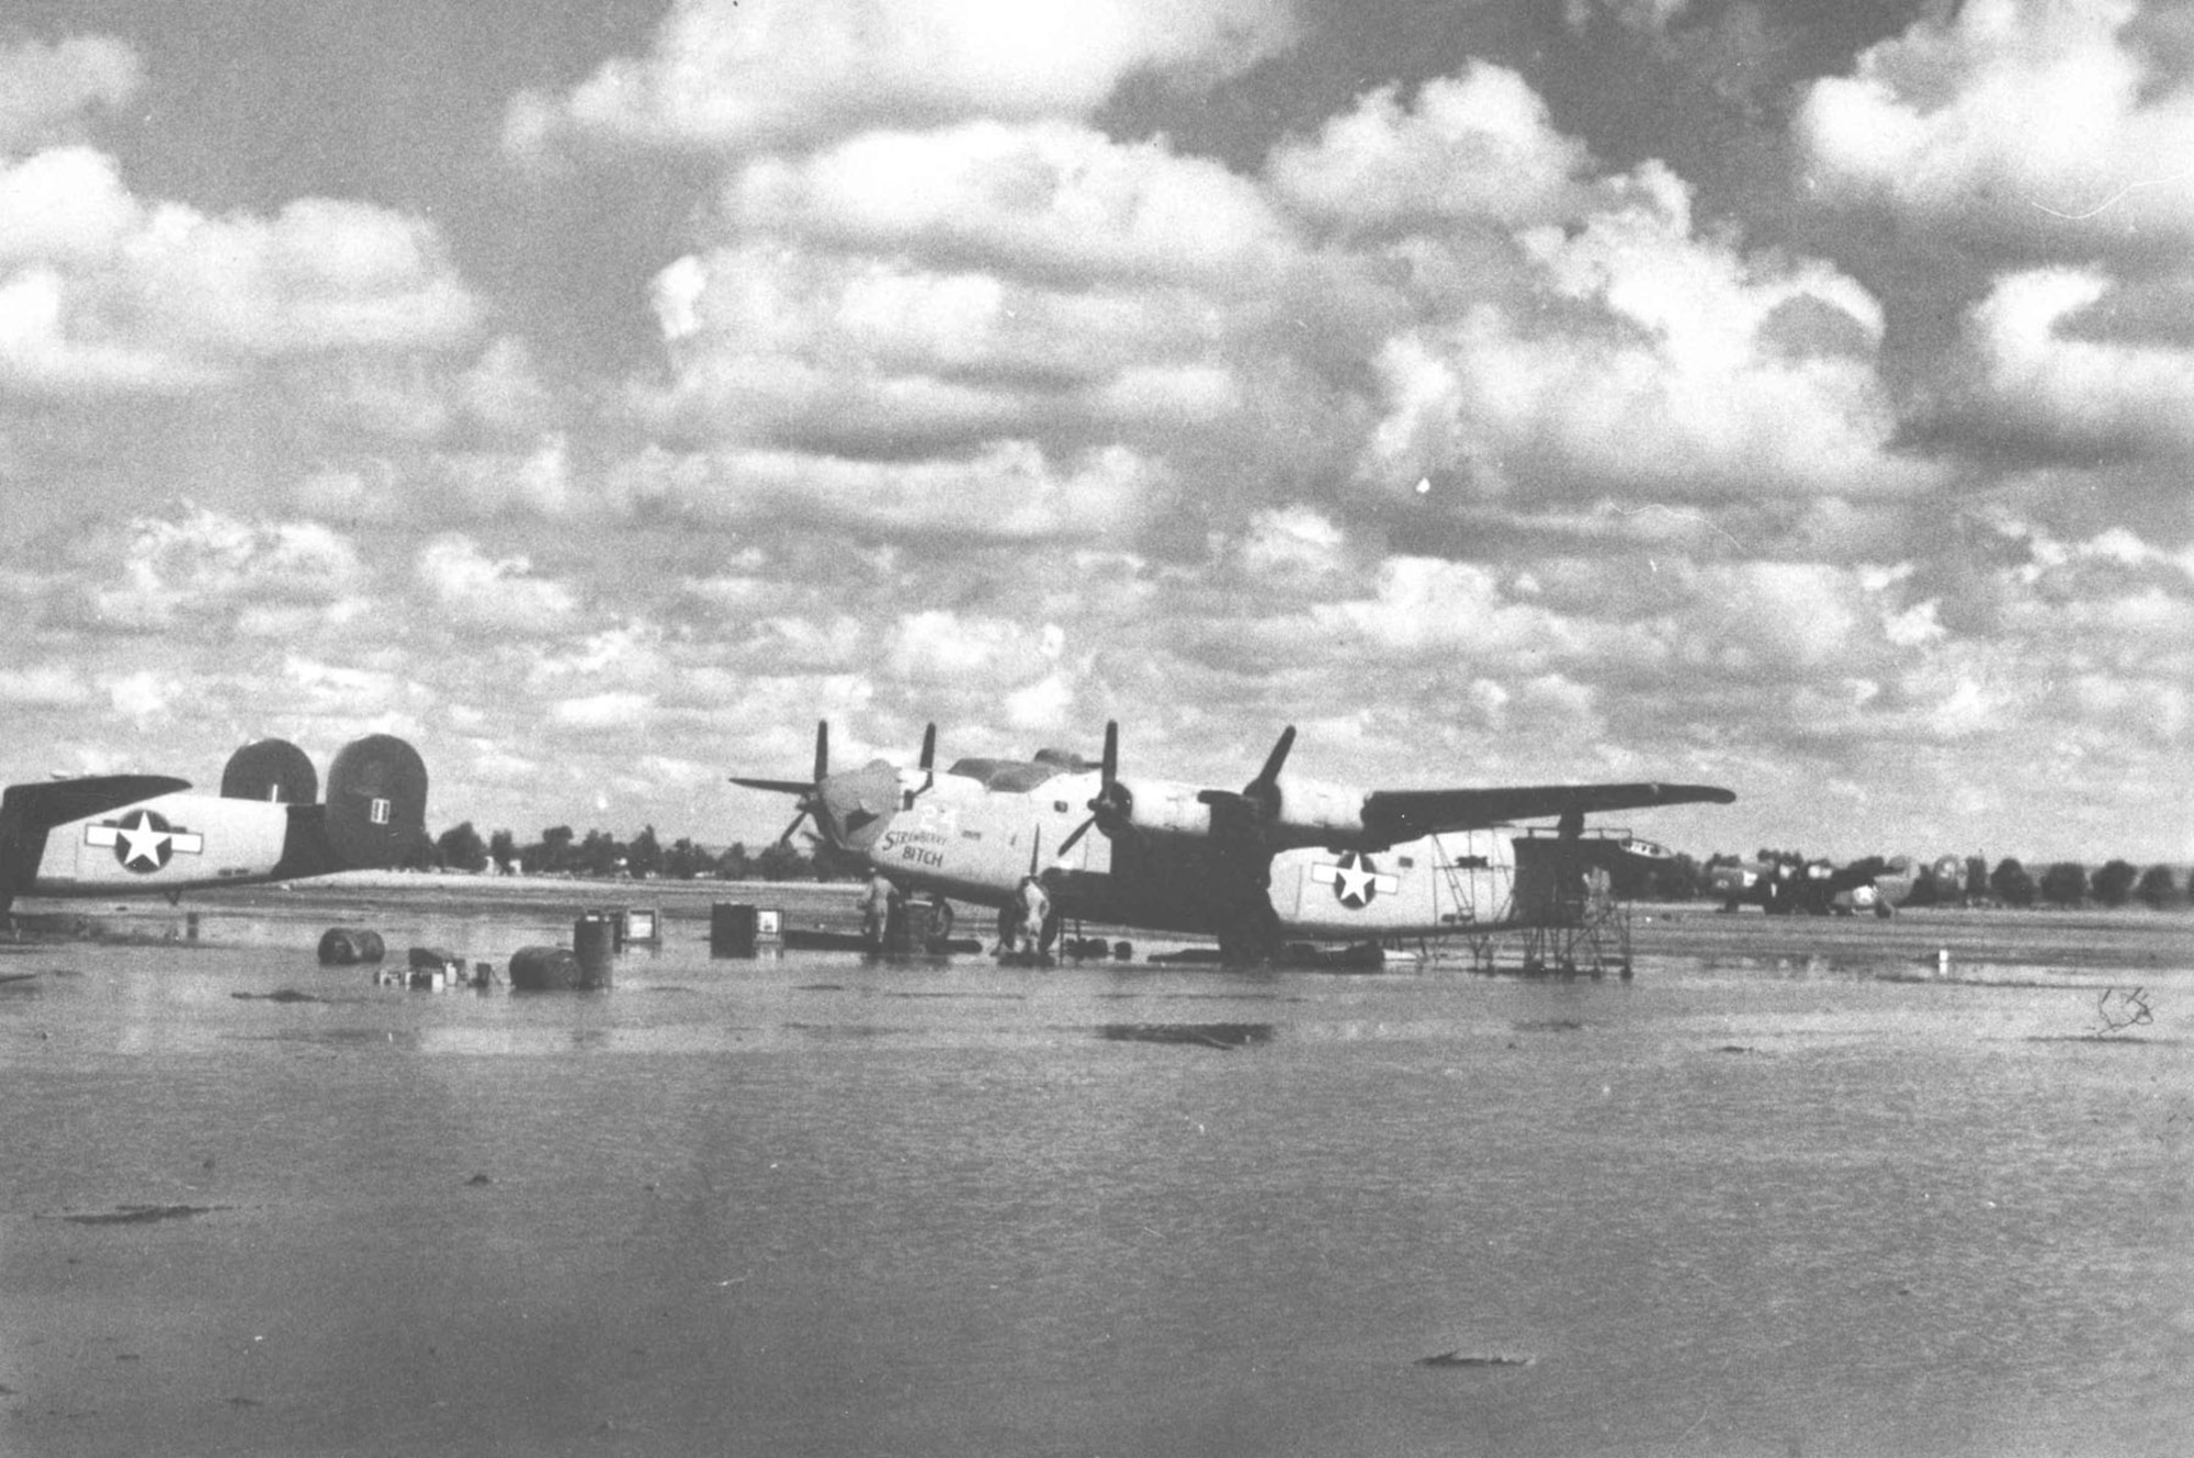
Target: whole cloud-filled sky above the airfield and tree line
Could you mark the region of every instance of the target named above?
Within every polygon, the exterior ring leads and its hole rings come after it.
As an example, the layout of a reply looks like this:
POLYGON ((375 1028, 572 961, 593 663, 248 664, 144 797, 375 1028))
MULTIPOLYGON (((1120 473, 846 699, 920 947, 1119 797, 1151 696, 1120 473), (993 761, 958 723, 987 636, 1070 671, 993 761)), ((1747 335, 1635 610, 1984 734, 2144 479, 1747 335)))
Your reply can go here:
POLYGON ((2194 859, 2194 9, 18 0, 0 777, 1095 749, 2194 859))

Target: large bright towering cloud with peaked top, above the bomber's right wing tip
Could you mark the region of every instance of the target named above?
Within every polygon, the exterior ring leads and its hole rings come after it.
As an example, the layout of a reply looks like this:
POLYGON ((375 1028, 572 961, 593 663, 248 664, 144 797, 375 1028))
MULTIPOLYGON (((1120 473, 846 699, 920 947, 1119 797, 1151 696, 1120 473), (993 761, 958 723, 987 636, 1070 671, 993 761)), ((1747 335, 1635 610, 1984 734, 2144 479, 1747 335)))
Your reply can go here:
POLYGON ((1459 481, 1466 503, 1926 487, 1931 468, 1889 452, 1876 301, 1825 263, 1696 237, 1678 178, 1639 182, 1582 228, 1523 233, 1536 303, 1479 301, 1384 345, 1360 476, 1459 481))

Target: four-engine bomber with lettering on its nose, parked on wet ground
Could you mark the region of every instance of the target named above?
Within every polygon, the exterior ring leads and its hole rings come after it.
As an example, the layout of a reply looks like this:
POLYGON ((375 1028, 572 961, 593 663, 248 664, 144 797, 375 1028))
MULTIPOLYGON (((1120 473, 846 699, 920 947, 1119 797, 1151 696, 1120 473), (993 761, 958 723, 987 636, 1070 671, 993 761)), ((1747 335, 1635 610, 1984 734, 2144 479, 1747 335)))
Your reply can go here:
POLYGON ((1529 920, 1547 883, 1577 861, 1663 854, 1586 841, 1586 812, 1735 799, 1703 784, 1354 790, 1283 773, 1292 747, 1290 727, 1240 790, 1123 780, 1117 722, 1097 764, 1044 749, 939 775, 930 725, 915 769, 873 760, 834 775, 829 725, 816 725, 812 780, 733 782, 796 797, 783 839, 814 819, 825 841, 902 889, 1005 907, 1022 876, 1038 876, 1064 920, 1215 935, 1229 962, 1266 960, 1288 935, 1371 940, 1529 920), (1509 828, 1527 819, 1560 823, 1551 834, 1509 828))

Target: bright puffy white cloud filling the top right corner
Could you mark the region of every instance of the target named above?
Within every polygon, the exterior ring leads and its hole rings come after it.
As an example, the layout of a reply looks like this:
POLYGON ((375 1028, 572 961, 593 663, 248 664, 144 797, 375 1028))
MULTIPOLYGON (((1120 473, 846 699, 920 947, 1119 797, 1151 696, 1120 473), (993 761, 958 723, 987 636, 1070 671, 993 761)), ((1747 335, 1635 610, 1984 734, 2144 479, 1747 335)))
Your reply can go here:
POLYGON ((1968 0, 1817 81, 1799 112, 1825 200, 2027 257, 2183 259, 2194 81, 2135 44, 2135 0, 1968 0))

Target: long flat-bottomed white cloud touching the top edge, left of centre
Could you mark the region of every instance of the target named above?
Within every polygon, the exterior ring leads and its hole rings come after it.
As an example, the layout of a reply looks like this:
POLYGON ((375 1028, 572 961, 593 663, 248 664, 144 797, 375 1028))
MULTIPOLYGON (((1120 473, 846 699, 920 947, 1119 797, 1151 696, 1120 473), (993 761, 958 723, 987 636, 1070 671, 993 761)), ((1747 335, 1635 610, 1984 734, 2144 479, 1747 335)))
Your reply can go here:
POLYGON ((527 92, 505 145, 715 152, 878 125, 1084 116, 1132 72, 1209 81, 1294 37, 1283 0, 678 0, 641 59, 527 92))

